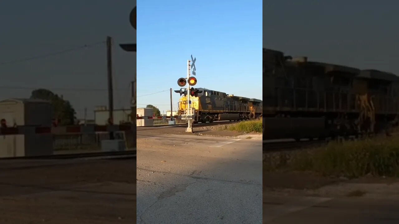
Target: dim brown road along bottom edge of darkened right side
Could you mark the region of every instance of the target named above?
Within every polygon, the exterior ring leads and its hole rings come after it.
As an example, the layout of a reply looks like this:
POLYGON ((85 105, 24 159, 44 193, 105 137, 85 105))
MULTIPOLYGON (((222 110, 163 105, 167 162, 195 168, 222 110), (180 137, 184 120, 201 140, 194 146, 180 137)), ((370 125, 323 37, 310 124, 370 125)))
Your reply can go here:
POLYGON ((268 196, 263 202, 267 224, 397 224, 398 198, 268 196))

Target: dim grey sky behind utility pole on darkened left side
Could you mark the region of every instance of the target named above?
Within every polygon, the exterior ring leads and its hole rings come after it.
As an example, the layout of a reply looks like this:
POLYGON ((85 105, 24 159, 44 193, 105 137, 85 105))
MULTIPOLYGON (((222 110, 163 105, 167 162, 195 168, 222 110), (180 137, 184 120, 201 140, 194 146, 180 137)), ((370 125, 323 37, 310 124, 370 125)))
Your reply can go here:
POLYGON ((129 23, 135 5, 135 0, 0 1, 0 100, 29 98, 33 89, 49 88, 71 101, 78 118, 83 118, 85 108, 88 118, 93 118, 95 106, 108 105, 105 44, 5 62, 105 41, 110 35, 115 44, 115 108, 130 108, 129 84, 136 73, 136 54, 123 51, 118 44, 136 43, 136 31, 129 23))

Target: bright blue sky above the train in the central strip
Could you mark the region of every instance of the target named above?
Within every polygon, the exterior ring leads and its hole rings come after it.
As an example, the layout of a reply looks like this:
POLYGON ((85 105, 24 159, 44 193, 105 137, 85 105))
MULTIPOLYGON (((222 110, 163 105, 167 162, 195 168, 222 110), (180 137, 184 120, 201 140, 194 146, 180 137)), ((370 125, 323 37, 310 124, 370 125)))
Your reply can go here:
MULTIPOLYGON (((170 110, 169 89, 180 89, 190 55, 196 87, 262 99, 261 0, 138 1, 137 8, 138 107, 170 110)), ((172 96, 175 110, 180 96, 172 96)))

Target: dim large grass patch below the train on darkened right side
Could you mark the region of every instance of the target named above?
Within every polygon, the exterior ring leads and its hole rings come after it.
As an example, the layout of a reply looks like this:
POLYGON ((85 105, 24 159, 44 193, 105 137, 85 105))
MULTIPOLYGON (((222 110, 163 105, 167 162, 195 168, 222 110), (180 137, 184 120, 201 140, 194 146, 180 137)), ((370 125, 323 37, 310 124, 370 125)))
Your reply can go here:
POLYGON ((357 178, 367 174, 399 177, 399 139, 374 138, 304 151, 292 158, 294 170, 357 178))

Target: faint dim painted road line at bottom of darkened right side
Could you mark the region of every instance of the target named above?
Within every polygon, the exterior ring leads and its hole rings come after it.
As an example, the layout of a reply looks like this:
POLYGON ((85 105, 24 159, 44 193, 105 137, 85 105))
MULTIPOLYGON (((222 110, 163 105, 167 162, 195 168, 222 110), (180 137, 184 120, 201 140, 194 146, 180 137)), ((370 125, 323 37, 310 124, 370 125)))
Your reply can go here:
MULTIPOLYGON (((268 223, 275 218, 290 214, 292 212, 298 212, 306 208, 315 206, 322 202, 331 200, 332 198, 322 198, 322 197, 303 197, 298 198, 298 200, 292 200, 283 204, 273 203, 269 204, 267 201, 263 203, 263 223, 268 223)), ((265 199, 264 199, 265 200, 265 199)))

